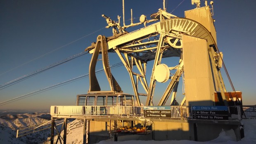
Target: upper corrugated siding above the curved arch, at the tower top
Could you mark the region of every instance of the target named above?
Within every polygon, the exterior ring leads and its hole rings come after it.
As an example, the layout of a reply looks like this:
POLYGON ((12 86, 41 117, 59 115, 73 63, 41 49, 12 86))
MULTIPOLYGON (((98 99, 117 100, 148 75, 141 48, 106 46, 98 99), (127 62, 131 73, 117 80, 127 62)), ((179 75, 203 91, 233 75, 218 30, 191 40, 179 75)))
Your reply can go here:
POLYGON ((211 35, 217 44, 216 30, 213 24, 209 6, 185 11, 185 18, 197 21, 205 28, 207 28, 207 30, 211 32, 211 35))

